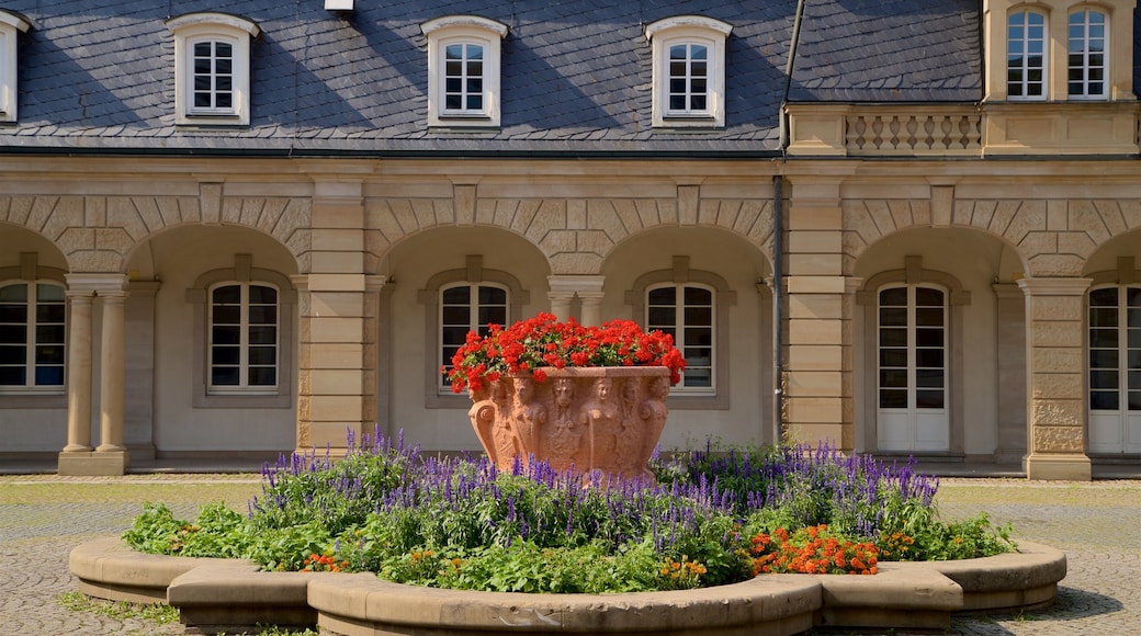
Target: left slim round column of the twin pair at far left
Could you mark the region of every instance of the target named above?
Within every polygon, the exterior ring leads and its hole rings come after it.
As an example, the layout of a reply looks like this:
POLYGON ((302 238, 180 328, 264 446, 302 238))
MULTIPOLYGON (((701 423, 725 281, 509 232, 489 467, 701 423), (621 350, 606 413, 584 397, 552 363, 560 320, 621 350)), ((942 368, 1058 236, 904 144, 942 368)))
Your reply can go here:
MULTIPOLYGON (((90 291, 68 291, 67 446, 64 452, 91 450, 91 301, 90 291)), ((65 459, 60 457, 60 462, 65 459)))

